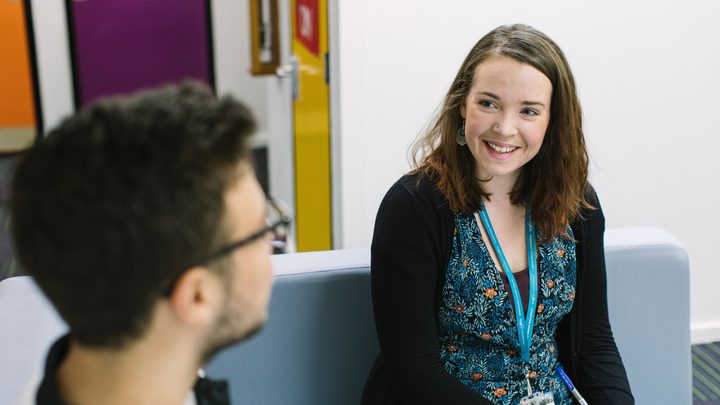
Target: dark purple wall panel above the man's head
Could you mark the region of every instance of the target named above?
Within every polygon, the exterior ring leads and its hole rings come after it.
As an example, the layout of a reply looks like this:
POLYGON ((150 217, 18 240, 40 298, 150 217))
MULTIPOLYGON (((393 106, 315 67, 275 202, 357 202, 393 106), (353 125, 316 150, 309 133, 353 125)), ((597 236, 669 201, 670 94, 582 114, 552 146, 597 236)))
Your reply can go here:
POLYGON ((185 78, 211 83, 206 0, 70 4, 80 106, 185 78))

